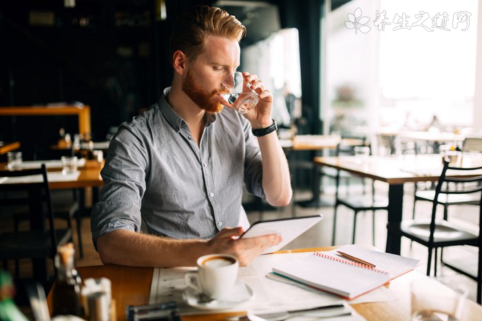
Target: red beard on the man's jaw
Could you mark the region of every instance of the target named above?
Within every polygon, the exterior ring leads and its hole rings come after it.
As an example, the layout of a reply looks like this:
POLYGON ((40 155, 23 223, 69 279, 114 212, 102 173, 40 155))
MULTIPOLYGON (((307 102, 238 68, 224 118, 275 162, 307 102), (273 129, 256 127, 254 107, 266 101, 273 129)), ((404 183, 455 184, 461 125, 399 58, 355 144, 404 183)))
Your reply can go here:
POLYGON ((198 107, 209 114, 216 114, 224 107, 218 99, 219 91, 213 90, 212 92, 208 92, 207 90, 203 90, 200 83, 194 79, 189 71, 186 73, 184 83, 182 83, 182 91, 185 92, 198 107))

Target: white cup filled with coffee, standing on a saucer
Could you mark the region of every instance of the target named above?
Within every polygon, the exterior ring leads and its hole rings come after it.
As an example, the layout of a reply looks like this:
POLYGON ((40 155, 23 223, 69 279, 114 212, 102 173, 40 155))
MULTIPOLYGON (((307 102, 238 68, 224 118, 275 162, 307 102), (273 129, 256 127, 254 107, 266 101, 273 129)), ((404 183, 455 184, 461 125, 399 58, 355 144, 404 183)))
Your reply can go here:
POLYGON ((212 299, 229 296, 238 278, 239 262, 229 254, 210 254, 197 260, 198 272, 185 274, 188 287, 212 299))

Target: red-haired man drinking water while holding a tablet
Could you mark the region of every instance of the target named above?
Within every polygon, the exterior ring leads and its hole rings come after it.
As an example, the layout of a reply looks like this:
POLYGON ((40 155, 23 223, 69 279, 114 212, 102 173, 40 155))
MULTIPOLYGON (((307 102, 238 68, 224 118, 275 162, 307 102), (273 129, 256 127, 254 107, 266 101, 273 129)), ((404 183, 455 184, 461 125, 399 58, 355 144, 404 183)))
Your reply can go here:
POLYGON ((199 256, 231 253, 249 265, 281 241, 274 234, 239 238, 243 183, 273 206, 288 205, 292 195, 270 92, 245 72, 258 105, 244 115, 222 105, 228 104, 220 84, 240 65, 245 32, 235 17, 207 6, 174 24, 171 87, 121 125, 109 146, 105 187, 92 211, 92 238, 103 262, 192 266, 199 256), (139 233, 141 218, 149 234, 139 233))

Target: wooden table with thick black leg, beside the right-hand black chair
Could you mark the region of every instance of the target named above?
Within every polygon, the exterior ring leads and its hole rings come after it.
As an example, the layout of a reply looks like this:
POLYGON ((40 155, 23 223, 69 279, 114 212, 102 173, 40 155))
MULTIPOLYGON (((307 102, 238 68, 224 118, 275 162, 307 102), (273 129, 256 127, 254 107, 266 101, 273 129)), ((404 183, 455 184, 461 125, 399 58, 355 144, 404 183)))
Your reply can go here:
MULTIPOLYGON (((315 157, 316 165, 333 167, 388 184, 388 225, 386 252, 400 254, 399 222, 403 213, 404 183, 437 181, 442 172, 439 154, 406 156, 315 157)), ((462 166, 480 166, 482 158, 463 157, 462 166)), ((450 175, 450 173, 448 174, 450 175)))

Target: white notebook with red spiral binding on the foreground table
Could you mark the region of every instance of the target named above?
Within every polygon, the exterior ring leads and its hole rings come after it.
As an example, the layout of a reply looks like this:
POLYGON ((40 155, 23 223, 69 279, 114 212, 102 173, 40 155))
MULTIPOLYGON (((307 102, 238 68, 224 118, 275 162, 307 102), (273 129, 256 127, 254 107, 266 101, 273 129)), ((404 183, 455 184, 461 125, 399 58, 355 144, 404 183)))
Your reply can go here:
POLYGON ((343 298, 353 299, 390 281, 390 274, 318 251, 273 267, 273 272, 343 298))

